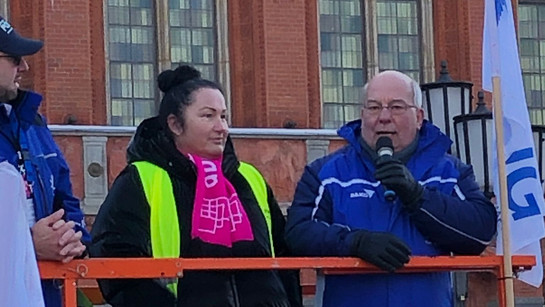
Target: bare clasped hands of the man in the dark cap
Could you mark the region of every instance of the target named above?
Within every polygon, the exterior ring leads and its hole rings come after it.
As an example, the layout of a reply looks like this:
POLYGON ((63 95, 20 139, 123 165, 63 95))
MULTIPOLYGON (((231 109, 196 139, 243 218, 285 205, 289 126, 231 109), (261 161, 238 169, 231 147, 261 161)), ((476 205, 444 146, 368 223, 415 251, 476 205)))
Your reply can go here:
POLYGON ((75 232, 73 221, 65 222, 60 209, 32 226, 32 240, 39 260, 70 262, 85 251, 80 241, 81 231, 75 232))

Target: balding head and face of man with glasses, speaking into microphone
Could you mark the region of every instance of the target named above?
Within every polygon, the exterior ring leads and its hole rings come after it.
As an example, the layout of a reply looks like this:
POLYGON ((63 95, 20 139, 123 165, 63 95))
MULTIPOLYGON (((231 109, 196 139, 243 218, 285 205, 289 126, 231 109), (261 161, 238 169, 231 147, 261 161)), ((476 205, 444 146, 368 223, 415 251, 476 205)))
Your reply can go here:
POLYGON ((410 79, 398 72, 381 73, 369 82, 361 110, 361 132, 367 145, 375 148, 381 136, 392 139, 395 152, 412 143, 424 117, 424 111, 415 106, 413 96, 410 79), (382 109, 377 113, 376 106, 380 105, 382 109), (375 106, 375 110, 368 106, 375 106), (400 106, 406 108, 403 110, 400 106))

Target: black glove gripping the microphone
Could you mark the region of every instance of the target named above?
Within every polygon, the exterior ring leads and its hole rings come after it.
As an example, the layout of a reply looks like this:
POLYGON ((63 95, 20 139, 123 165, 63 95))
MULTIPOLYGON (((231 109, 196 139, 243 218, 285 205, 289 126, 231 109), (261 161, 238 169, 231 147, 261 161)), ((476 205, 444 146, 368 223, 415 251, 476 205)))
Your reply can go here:
POLYGON ((396 192, 401 203, 409 210, 420 206, 424 188, 414 180, 413 175, 403 163, 393 158, 379 158, 376 162, 375 178, 385 187, 396 192))

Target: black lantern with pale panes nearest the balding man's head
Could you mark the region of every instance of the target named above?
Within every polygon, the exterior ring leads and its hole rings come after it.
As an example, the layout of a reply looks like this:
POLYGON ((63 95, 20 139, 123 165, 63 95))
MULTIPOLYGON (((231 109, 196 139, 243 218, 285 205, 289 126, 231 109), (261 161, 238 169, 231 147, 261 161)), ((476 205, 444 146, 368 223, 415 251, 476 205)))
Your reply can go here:
POLYGON ((449 138, 454 135, 453 118, 471 113, 473 83, 453 81, 447 70, 447 61, 441 61, 441 72, 436 82, 422 84, 423 108, 430 122, 449 138))

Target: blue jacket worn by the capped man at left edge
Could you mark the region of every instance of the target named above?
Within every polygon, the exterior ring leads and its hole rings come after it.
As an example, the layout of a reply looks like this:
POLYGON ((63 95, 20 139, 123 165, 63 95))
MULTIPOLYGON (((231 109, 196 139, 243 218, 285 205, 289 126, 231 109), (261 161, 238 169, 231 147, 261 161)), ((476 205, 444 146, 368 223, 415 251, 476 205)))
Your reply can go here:
MULTIPOLYGON (((15 116, 8 116, 3 106, 0 108, 0 156, 17 167, 17 149, 21 137, 16 138, 13 131, 20 127, 20 133, 26 137, 29 158, 37 178, 33 184, 36 220, 63 208, 64 218, 76 222, 75 230, 81 230, 82 241, 88 242, 90 235, 85 230, 79 200, 72 195, 68 164, 55 144, 45 120, 38 114, 41 101, 39 94, 20 91, 16 102, 11 103, 11 112, 15 112, 15 116)), ((43 281, 42 288, 47 307, 61 306, 58 281, 43 281)))

